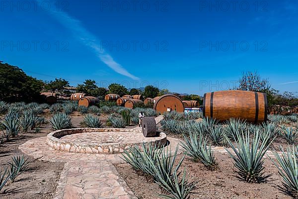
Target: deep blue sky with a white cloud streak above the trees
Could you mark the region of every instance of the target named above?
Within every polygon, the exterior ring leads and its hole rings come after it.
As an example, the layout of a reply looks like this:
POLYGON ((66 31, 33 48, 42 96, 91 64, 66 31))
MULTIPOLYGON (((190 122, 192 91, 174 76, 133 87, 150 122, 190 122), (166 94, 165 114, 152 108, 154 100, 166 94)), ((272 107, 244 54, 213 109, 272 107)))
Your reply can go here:
POLYGON ((1 1, 0 60, 43 80, 203 95, 258 71, 298 91, 298 1, 1 1))

